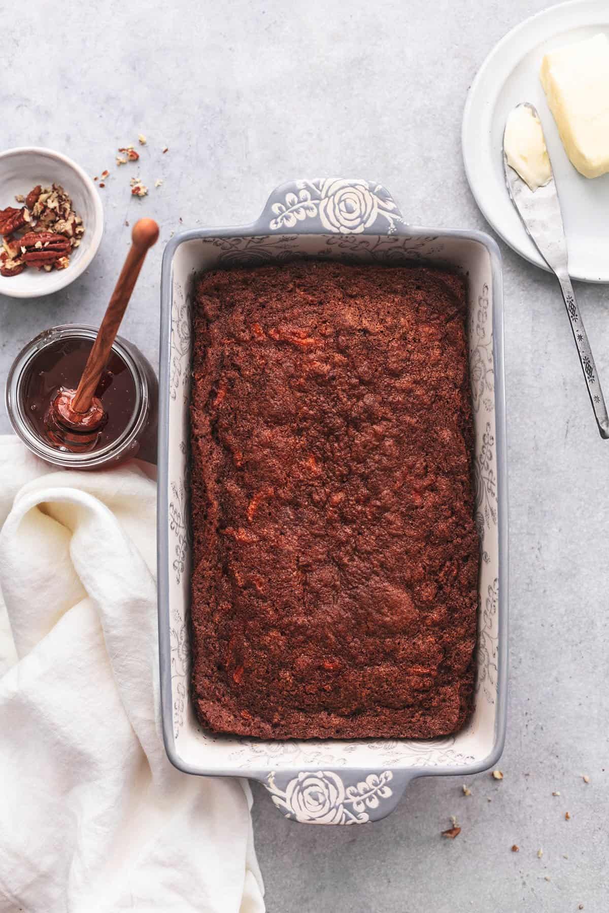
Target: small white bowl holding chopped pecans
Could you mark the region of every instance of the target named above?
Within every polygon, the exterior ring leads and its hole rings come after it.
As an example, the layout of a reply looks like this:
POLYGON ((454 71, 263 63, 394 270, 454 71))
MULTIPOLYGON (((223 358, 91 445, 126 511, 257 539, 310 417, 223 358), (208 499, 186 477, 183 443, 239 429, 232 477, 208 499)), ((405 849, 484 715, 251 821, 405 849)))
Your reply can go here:
POLYGON ((71 197, 85 233, 79 247, 73 250, 66 269, 24 269, 18 276, 0 276, 0 294, 11 298, 38 298, 50 295, 78 278, 89 266, 100 247, 103 234, 103 209, 100 194, 88 174, 68 156, 52 149, 23 146, 0 152, 0 209, 16 206, 16 194, 26 194, 42 184, 61 184, 71 197))

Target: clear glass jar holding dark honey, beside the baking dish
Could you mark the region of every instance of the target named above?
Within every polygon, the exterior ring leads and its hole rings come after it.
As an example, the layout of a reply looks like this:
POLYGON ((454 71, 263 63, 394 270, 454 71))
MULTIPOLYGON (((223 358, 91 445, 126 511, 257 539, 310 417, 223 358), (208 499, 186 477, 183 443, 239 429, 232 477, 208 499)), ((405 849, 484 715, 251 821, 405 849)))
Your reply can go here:
POLYGON ((37 371, 41 355, 50 346, 70 339, 93 342, 97 328, 69 323, 52 327, 28 342, 19 352, 6 381, 6 412, 16 434, 32 453, 41 459, 69 469, 100 469, 115 466, 123 460, 138 456, 156 463, 156 427, 158 417, 158 383, 152 365, 131 342, 117 336, 112 352, 131 373, 134 386, 134 405, 124 430, 110 443, 87 453, 72 453, 66 448, 51 446, 29 417, 32 404, 26 402, 28 381, 37 371))

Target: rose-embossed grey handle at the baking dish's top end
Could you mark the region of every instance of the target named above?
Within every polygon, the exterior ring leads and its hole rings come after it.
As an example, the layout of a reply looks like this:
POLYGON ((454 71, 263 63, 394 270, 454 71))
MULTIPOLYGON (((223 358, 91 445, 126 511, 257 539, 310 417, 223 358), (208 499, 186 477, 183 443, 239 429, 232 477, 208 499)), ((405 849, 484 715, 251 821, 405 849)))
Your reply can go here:
POLYGON ((318 177, 278 186, 256 229, 261 235, 395 235, 401 225, 404 217, 383 184, 318 177))

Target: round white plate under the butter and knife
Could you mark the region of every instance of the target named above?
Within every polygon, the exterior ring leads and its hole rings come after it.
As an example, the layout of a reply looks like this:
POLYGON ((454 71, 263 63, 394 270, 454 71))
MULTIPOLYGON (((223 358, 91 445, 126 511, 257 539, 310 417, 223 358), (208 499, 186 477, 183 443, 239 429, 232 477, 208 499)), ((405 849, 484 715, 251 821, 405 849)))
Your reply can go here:
POLYGON ((509 110, 520 101, 535 105, 561 198, 569 270, 572 278, 585 282, 609 282, 609 174, 590 180, 573 168, 546 103, 539 70, 547 51, 598 32, 609 37, 607 0, 552 6, 514 28, 479 69, 467 95, 462 132, 467 180, 482 214, 509 247, 547 269, 511 204, 503 173, 503 129, 509 110))

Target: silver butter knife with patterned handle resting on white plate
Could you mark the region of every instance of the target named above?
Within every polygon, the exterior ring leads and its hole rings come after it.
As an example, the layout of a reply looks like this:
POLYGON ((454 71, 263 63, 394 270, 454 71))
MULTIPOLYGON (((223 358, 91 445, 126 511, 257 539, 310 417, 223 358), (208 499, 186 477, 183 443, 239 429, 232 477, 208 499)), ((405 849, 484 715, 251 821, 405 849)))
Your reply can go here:
MULTIPOLYGON (((528 101, 524 102, 536 117, 537 110, 528 101)), ((519 106, 520 107, 520 106, 519 106)), ((577 353, 582 363, 583 376, 586 381, 588 395, 592 403, 594 417, 601 437, 609 438, 609 415, 604 403, 596 365, 594 364, 592 349, 588 335, 583 327, 582 314, 575 299, 575 292, 569 276, 569 257, 567 253, 567 240, 562 225, 561 204, 554 183, 554 174, 548 184, 532 191, 520 174, 509 165, 508 158, 503 151, 503 164, 505 168, 506 184, 512 203, 516 206, 520 218, 530 235, 541 257, 546 261, 551 271, 558 279, 564 306, 567 309, 573 340, 577 346, 577 353)))

